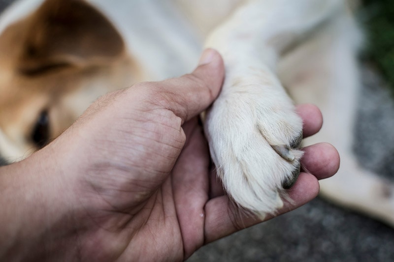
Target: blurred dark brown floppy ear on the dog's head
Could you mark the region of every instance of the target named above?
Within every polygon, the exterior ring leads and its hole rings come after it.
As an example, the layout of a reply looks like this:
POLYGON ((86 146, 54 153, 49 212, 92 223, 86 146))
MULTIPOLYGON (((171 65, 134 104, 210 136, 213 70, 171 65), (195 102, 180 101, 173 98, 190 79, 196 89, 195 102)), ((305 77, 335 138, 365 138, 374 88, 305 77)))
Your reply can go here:
POLYGON ((124 50, 117 30, 83 0, 46 0, 26 22, 19 63, 22 73, 106 62, 124 50))

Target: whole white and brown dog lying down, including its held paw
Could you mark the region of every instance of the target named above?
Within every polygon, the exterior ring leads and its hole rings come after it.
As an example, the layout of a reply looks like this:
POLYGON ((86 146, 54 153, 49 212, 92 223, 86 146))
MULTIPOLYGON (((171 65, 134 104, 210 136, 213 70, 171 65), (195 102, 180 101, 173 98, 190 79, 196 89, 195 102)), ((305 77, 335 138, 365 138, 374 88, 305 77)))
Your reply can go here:
POLYGON ((234 201, 263 216, 296 179, 302 122, 325 117, 341 169, 322 194, 394 225, 393 185, 352 153, 361 33, 343 0, 22 0, 0 18, 0 156, 22 159, 59 136, 100 95, 193 69, 203 47, 226 65, 205 132, 234 201), (286 87, 287 91, 282 87, 286 87), (242 130, 240 132, 239 130, 242 130))

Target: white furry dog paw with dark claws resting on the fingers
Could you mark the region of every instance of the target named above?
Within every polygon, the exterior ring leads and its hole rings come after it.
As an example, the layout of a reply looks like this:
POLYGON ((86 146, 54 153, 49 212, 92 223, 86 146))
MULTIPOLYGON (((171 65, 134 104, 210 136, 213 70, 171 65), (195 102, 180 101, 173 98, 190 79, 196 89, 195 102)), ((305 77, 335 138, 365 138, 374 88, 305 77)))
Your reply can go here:
POLYGON ((263 217, 283 206, 299 175, 302 120, 279 83, 242 83, 225 83, 205 133, 228 195, 263 217))

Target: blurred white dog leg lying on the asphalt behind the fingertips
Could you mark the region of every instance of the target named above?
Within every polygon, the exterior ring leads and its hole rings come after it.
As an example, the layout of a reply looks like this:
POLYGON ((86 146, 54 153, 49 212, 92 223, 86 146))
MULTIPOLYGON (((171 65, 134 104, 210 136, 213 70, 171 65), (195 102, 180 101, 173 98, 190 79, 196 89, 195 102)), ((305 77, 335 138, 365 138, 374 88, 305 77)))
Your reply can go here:
POLYGON ((284 57, 278 71, 297 103, 314 103, 323 112, 322 130, 305 144, 327 141, 341 155, 338 174, 320 182, 321 194, 394 226, 394 184, 362 169, 352 151, 361 85, 359 42, 358 29, 344 13, 319 36, 284 57))

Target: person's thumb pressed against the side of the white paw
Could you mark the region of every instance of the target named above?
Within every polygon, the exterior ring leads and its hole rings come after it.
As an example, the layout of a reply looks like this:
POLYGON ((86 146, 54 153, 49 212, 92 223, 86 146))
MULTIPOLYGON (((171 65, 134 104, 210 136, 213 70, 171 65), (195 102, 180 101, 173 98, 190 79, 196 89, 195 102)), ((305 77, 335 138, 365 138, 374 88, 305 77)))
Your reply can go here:
POLYGON ((223 84, 224 72, 220 54, 214 49, 206 49, 192 73, 157 84, 169 97, 166 106, 183 123, 204 111, 216 99, 223 84))

